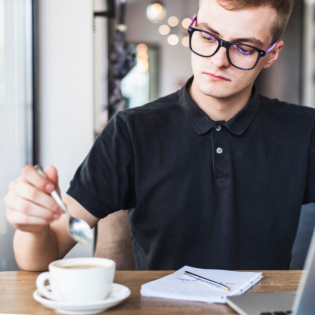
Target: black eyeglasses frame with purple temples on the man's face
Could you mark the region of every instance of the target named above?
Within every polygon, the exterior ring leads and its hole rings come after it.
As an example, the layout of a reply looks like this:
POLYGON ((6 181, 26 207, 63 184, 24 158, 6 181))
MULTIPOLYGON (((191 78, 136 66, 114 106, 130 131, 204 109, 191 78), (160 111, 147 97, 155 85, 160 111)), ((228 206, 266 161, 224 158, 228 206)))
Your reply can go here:
POLYGON ((189 27, 188 27, 188 30, 187 30, 187 32, 188 32, 188 34, 189 34, 189 48, 190 48, 190 50, 191 50, 193 53, 195 53, 196 55, 198 55, 198 56, 208 58, 208 57, 212 57, 213 55, 215 55, 221 47, 224 47, 224 48, 226 48, 226 57, 227 57, 227 60, 228 60, 229 64, 232 65, 232 66, 235 67, 235 68, 240 69, 240 70, 252 70, 252 69, 254 69, 254 68, 256 67, 256 65, 257 65, 257 63, 258 63, 258 61, 259 61, 259 59, 262 58, 262 57, 264 57, 264 56, 266 56, 266 54, 268 54, 272 49, 274 49, 275 46, 276 46, 276 44, 277 44, 277 42, 278 42, 278 40, 275 41, 270 47, 268 47, 266 50, 263 50, 263 49, 260 49, 260 48, 257 48, 257 47, 254 47, 254 46, 251 46, 251 45, 248 45, 248 44, 244 44, 244 43, 226 41, 226 40, 224 40, 224 39, 222 39, 222 38, 220 38, 220 37, 217 37, 217 36, 213 35, 212 33, 209 33, 209 32, 207 32, 207 31, 200 30, 200 29, 197 29, 197 28, 195 28, 195 27, 192 27, 192 25, 194 24, 194 22, 195 22, 196 20, 197 20, 197 16, 195 16, 195 17, 193 18, 193 20, 191 21, 191 23, 190 23, 190 25, 189 25, 189 27), (210 35, 210 36, 213 36, 213 37, 219 42, 219 45, 218 45, 218 47, 216 48, 216 50, 214 51, 213 54, 211 54, 211 55, 209 55, 209 56, 204 56, 204 55, 201 55, 201 54, 197 53, 196 51, 194 51, 194 50, 192 49, 192 47, 191 47, 191 39, 192 39, 192 35, 193 35, 193 33, 194 33, 195 31, 202 32, 202 33, 206 33, 206 34, 208 34, 208 35, 210 35), (232 45, 242 45, 242 46, 246 46, 246 47, 250 47, 250 48, 252 48, 252 49, 255 49, 255 50, 258 52, 258 56, 257 56, 257 60, 256 60, 255 64, 254 64, 251 68, 241 68, 241 67, 238 67, 238 66, 234 65, 234 64, 231 62, 230 58, 229 58, 229 52, 228 52, 229 47, 232 46, 232 45))

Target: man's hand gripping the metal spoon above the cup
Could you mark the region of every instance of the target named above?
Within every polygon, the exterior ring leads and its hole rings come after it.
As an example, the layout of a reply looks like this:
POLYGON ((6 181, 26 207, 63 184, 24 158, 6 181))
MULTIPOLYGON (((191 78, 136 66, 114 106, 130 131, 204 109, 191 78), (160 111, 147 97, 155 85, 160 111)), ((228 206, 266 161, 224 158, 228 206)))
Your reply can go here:
POLYGON ((58 191, 57 170, 49 166, 43 178, 33 166, 22 169, 20 177, 11 182, 5 197, 7 219, 17 229, 26 232, 39 232, 51 222, 60 218, 59 208, 50 193, 58 191))

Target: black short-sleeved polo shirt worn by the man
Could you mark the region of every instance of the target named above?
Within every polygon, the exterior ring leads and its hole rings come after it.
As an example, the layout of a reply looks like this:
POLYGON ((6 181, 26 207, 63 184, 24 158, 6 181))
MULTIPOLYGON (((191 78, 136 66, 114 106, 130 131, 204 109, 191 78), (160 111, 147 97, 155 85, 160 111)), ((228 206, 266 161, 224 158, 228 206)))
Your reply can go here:
POLYGON ((213 121, 187 85, 117 113, 67 192, 96 217, 128 210, 137 268, 286 269, 315 200, 315 111, 255 89, 213 121))

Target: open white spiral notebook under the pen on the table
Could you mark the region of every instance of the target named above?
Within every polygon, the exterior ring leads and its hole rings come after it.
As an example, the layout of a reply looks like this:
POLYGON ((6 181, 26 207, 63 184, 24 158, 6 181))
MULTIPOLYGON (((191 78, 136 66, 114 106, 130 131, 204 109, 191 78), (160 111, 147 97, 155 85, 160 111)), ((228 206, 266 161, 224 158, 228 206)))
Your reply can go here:
POLYGON ((184 266, 170 275, 142 284, 140 293, 143 296, 225 303, 226 296, 244 293, 262 277, 261 272, 200 269, 184 266), (189 277, 184 274, 184 271, 222 283, 229 290, 223 290, 204 281, 189 277))

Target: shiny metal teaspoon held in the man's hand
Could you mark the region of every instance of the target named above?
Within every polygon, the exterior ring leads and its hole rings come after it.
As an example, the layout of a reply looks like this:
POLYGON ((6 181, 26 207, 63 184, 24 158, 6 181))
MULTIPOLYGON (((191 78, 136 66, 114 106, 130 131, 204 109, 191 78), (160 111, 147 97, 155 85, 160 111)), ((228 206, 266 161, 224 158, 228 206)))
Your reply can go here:
MULTIPOLYGON (((35 165, 34 168, 41 176, 47 178, 43 168, 40 165, 35 165)), ((71 237, 78 243, 89 244, 93 240, 93 232, 90 225, 83 219, 78 219, 71 216, 66 205, 63 203, 55 190, 52 191, 50 195, 57 202, 58 206, 68 215, 68 232, 71 237)))

